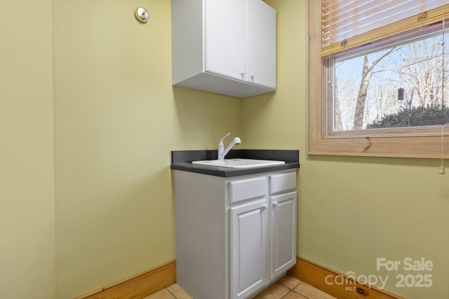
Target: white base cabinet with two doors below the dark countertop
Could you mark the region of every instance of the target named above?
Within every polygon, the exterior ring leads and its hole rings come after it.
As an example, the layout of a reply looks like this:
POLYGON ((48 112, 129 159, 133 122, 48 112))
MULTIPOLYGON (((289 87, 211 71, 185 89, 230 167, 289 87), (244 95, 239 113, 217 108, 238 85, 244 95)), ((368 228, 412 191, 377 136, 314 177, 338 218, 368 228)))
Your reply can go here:
POLYGON ((222 178, 174 171, 177 284, 243 299, 296 263, 296 170, 222 178))

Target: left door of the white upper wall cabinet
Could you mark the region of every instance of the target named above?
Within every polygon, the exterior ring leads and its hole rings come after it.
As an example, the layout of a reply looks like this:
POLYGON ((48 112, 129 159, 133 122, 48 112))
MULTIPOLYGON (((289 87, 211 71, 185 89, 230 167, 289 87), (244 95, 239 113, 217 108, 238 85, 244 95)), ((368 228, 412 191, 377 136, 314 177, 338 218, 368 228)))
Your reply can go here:
POLYGON ((246 74, 246 1, 205 2, 204 71, 242 80, 246 74))

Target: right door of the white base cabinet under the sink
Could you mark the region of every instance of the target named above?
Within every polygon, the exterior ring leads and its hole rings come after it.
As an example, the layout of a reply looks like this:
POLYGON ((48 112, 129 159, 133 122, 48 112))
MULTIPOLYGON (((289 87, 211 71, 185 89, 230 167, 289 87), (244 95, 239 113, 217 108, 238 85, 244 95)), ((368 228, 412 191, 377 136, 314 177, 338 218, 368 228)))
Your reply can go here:
POLYGON ((296 263, 296 191, 269 198, 270 279, 296 263))

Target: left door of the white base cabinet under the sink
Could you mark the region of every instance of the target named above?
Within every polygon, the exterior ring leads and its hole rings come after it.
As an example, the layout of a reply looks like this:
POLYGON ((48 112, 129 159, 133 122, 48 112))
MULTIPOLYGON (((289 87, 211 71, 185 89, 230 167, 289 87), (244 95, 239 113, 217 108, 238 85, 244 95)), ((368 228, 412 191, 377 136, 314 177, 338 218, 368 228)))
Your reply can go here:
POLYGON ((229 281, 232 299, 267 283, 268 205, 264 197, 229 209, 229 281))

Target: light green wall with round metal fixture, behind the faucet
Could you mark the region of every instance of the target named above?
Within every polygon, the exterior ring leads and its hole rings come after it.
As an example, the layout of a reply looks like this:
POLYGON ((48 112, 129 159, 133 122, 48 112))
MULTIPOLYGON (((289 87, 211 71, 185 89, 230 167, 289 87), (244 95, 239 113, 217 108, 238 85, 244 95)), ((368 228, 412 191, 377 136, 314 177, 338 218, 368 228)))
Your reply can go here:
POLYGON ((171 85, 170 2, 53 1, 58 298, 173 260, 170 151, 241 133, 239 99, 171 85))

